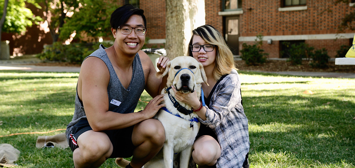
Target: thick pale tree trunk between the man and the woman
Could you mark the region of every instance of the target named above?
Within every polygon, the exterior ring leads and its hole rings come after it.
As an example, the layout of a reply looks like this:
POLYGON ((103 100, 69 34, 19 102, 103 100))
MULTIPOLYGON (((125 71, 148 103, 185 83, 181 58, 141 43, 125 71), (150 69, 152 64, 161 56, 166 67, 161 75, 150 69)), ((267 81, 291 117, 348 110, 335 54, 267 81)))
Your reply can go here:
POLYGON ((166 0, 167 56, 186 56, 192 30, 205 24, 204 0, 166 0))

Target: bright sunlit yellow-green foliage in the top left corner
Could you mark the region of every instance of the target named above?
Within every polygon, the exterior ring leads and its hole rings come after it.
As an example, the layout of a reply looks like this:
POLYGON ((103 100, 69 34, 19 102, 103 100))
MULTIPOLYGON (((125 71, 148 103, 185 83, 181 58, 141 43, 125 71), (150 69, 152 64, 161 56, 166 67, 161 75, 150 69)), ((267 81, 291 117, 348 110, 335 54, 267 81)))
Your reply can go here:
MULTIPOLYGON (((4 25, 1 30, 6 33, 24 33, 27 27, 31 27, 33 23, 39 24, 42 19, 34 16, 32 11, 25 7, 25 2, 34 4, 38 8, 40 6, 34 0, 9 0, 7 4, 6 16, 4 25)), ((0 8, 4 8, 4 1, 0 1, 0 8)), ((3 15, 3 10, 0 11, 0 16, 3 15)))

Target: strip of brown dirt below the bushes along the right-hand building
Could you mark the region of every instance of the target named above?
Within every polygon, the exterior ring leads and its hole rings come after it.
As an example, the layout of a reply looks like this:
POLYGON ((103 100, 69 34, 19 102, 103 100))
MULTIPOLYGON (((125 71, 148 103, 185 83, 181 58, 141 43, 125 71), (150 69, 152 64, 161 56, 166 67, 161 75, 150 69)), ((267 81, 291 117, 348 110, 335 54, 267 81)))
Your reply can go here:
POLYGON ((307 60, 303 60, 302 65, 292 65, 286 60, 267 60, 266 63, 258 66, 247 66, 243 60, 237 60, 235 63, 239 70, 355 73, 355 65, 335 65, 334 62, 329 62, 328 68, 324 69, 312 68, 307 60))

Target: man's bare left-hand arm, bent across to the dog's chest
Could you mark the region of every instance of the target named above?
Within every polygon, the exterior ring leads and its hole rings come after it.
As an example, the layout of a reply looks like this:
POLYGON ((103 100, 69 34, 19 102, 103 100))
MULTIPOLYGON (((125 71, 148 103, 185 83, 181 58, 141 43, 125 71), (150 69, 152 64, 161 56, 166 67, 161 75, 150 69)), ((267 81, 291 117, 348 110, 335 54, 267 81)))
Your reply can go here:
MULTIPOLYGON (((120 114, 108 111, 107 86, 110 80, 105 63, 96 57, 87 58, 80 71, 81 100, 93 131, 121 129, 152 118, 163 106, 162 96, 155 97, 141 112, 120 114)), ((79 87, 78 87, 79 88, 79 87)))

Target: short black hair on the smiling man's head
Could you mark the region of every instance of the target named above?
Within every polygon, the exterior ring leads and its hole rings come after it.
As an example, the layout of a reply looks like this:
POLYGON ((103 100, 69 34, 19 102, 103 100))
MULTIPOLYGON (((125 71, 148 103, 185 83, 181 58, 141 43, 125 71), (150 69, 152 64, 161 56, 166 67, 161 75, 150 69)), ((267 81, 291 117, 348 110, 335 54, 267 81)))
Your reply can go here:
POLYGON ((144 27, 147 27, 147 20, 144 16, 144 11, 131 4, 123 5, 117 8, 110 19, 111 28, 117 29, 119 26, 125 24, 132 15, 139 15, 143 18, 144 27))

